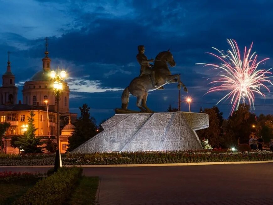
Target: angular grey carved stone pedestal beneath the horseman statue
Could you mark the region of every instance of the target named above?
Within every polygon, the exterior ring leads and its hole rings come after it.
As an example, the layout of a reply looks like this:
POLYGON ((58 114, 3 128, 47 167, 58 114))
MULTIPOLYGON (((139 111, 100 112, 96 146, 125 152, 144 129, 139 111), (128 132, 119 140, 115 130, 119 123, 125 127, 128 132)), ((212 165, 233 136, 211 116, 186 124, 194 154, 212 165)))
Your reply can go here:
POLYGON ((115 114, 104 129, 73 153, 174 151, 202 149, 195 130, 207 128, 205 113, 163 112, 115 114))

